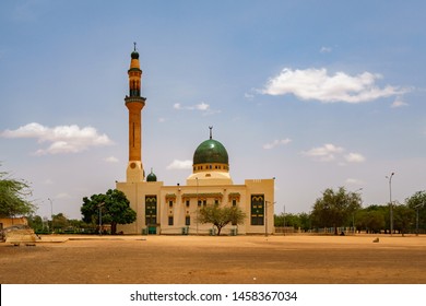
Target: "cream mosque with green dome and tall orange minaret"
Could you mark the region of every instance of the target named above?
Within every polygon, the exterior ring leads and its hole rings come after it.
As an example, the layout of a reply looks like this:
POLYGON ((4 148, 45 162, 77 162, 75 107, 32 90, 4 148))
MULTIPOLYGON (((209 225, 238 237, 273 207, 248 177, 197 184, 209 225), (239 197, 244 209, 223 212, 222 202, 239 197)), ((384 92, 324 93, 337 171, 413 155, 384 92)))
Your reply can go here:
POLYGON ((274 216, 274 178, 246 179, 233 183, 229 158, 225 146, 210 138, 202 141, 193 153, 192 174, 187 184, 166 186, 151 173, 145 177, 142 164, 142 109, 146 98, 141 96, 142 70, 139 52, 131 52, 129 95, 129 162, 126 181, 116 188, 125 192, 130 207, 137 212, 131 224, 118 225, 125 234, 214 235, 212 224, 199 224, 198 212, 203 205, 237 205, 246 213, 244 224, 227 225, 224 235, 271 234, 274 216))

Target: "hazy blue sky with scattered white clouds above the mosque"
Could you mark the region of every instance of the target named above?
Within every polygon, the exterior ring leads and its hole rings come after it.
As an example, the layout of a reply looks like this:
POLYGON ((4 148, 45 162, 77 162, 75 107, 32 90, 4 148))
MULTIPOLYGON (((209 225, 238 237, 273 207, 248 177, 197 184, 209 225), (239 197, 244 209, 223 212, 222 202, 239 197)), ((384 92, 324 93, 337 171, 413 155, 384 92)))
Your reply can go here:
POLYGON ((126 180, 135 42, 142 162, 165 185, 186 184, 213 126, 235 184, 275 178, 277 214, 339 187, 364 207, 403 203, 426 189, 425 12, 421 0, 1 1, 0 169, 31 184, 47 217, 80 219, 83 197, 126 180))

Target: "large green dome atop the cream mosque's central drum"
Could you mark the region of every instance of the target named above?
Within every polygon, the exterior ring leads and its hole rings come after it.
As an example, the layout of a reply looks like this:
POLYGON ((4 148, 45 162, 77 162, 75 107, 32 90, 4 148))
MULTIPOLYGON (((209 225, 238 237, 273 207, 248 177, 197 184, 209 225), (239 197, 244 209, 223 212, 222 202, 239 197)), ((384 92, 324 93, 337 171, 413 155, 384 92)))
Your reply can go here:
POLYGON ((202 142, 193 153, 193 164, 228 164, 225 146, 214 139, 202 142))

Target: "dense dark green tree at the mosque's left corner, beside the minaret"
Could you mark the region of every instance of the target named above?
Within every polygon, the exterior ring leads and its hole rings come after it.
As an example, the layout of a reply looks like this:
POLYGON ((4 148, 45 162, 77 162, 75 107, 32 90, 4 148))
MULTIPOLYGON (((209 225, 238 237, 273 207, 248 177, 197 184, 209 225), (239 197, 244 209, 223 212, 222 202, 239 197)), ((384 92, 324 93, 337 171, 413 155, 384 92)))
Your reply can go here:
POLYGON ((83 221, 92 224, 99 224, 100 215, 103 224, 111 225, 113 235, 117 233, 117 224, 129 224, 137 220, 137 213, 130 208, 126 195, 117 189, 109 189, 105 195, 84 197, 81 213, 83 221))

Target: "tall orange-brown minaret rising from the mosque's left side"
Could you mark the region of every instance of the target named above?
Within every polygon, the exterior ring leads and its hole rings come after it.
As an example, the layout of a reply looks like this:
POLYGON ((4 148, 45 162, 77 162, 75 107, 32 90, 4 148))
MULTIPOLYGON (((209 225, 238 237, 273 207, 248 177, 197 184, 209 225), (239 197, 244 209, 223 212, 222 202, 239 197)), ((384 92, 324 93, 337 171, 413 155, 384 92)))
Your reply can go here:
POLYGON ((142 70, 139 64, 137 43, 131 54, 129 74, 129 96, 126 96, 126 106, 129 109, 129 164, 127 166, 127 181, 142 181, 145 177, 142 165, 142 108, 145 97, 141 96, 142 70))

